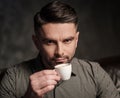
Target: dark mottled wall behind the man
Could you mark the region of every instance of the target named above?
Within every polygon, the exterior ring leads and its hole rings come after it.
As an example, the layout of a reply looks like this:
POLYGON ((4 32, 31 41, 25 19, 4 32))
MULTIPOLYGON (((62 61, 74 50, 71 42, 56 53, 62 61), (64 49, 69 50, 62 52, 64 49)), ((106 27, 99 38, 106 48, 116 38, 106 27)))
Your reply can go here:
MULTIPOLYGON (((36 57, 33 16, 51 0, 0 0, 0 68, 36 57)), ((107 0, 61 0, 80 20, 76 56, 90 60, 120 55, 119 3, 107 0)))

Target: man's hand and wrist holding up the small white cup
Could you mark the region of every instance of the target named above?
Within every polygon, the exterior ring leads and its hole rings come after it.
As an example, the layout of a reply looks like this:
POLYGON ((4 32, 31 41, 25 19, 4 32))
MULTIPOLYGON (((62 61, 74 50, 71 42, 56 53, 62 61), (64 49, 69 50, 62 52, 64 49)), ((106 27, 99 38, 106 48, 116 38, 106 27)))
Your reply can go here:
POLYGON ((42 98, 45 93, 54 89, 59 80, 60 76, 55 70, 43 70, 32 74, 26 98, 42 98))

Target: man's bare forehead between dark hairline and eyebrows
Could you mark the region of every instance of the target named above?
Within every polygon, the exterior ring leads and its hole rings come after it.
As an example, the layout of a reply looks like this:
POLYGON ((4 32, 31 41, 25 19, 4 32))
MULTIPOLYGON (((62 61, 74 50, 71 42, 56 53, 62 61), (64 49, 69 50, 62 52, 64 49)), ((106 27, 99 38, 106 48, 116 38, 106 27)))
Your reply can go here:
POLYGON ((74 23, 48 23, 42 26, 39 33, 46 38, 74 36, 76 26, 74 23))

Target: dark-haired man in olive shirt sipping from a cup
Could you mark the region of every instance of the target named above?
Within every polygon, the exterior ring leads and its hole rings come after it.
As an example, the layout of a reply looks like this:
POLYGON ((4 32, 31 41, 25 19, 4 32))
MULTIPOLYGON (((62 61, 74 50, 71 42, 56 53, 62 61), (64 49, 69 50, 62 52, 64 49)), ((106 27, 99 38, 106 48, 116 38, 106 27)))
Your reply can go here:
POLYGON ((120 98, 108 74, 95 62, 74 57, 79 32, 75 10, 60 1, 44 6, 34 17, 37 58, 9 68, 0 84, 0 98, 120 98), (56 64, 72 64, 69 80, 61 80, 56 64))

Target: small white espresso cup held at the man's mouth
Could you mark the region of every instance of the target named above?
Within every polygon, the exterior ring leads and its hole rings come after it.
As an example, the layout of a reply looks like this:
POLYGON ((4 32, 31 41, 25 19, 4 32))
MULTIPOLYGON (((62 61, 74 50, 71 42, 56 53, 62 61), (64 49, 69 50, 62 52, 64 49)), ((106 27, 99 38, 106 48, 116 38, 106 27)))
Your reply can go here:
POLYGON ((72 65, 71 63, 63 63, 55 66, 55 70, 61 76, 62 80, 68 80, 71 77, 72 65))

